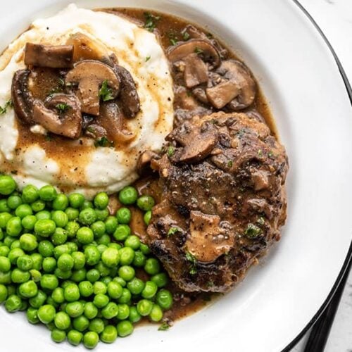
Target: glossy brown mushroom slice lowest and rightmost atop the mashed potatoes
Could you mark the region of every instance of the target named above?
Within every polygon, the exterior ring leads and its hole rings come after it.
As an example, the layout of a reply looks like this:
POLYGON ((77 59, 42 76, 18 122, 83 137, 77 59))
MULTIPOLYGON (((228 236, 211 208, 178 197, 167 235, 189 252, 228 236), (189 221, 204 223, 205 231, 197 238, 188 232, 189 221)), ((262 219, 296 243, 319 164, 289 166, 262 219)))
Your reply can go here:
POLYGON ((134 138, 134 134, 125 129, 124 115, 117 103, 110 101, 101 104, 96 123, 101 125, 115 142, 128 142, 134 138))

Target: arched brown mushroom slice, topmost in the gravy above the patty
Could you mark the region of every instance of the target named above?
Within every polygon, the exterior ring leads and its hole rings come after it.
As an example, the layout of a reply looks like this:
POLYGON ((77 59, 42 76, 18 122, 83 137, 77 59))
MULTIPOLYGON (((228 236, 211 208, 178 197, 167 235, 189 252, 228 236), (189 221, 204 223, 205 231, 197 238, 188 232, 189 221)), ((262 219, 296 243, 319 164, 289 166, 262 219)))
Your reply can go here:
POLYGON ((199 54, 204 61, 213 63, 214 68, 217 68, 221 63, 218 50, 205 39, 191 39, 188 42, 171 46, 168 50, 168 58, 172 63, 180 61, 190 54, 199 54))

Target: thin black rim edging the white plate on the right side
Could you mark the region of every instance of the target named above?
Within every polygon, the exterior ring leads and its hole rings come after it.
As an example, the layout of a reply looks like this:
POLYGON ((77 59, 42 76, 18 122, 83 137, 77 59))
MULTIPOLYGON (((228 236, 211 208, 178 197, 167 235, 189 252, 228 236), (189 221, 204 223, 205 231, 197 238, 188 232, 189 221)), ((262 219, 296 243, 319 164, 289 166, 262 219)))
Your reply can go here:
MULTIPOLYGON (((334 50, 334 47, 329 42, 329 39, 327 39, 325 33, 322 31, 322 29, 320 28, 318 23, 314 20, 313 16, 310 15, 308 10, 301 4, 301 2, 298 0, 292 0, 292 1, 294 2, 294 4, 296 4, 298 9, 300 11, 302 11, 303 15, 306 16, 306 18, 310 21, 310 23, 313 25, 313 27, 315 27, 315 30, 317 30, 318 34, 320 34, 320 37, 322 37, 323 41, 325 42, 327 49, 329 49, 330 53, 332 54, 334 61, 337 65, 337 68, 339 68, 339 73, 341 75, 342 80, 344 81, 344 85, 346 87, 348 98, 349 98, 351 106, 352 106, 352 87, 351 87, 351 84, 348 80, 346 72, 344 70, 344 67, 341 64, 339 56, 337 56, 336 51, 334 50)), ((327 309, 327 306, 329 306, 330 301, 332 301, 332 298, 334 297, 334 294, 336 293, 336 291, 339 287, 339 284, 341 283, 345 273, 351 267, 351 264, 352 264, 352 242, 348 248, 347 256, 344 260, 344 263, 342 265, 341 270, 339 271, 339 275, 337 276, 337 279, 334 282, 332 289, 329 291, 327 298, 325 298, 325 301, 322 303, 322 305, 318 309, 317 313, 315 313, 315 315, 313 315, 313 318, 310 319, 308 324, 305 327, 303 327, 301 332, 284 349, 282 349, 281 352, 291 351, 291 349, 294 348, 294 346, 296 346, 296 344, 298 344, 299 341, 301 341, 301 339, 308 332, 308 330, 311 327, 313 327, 313 325, 315 325, 315 323, 318 321, 318 319, 320 318, 322 313, 324 313, 325 310, 327 309)))

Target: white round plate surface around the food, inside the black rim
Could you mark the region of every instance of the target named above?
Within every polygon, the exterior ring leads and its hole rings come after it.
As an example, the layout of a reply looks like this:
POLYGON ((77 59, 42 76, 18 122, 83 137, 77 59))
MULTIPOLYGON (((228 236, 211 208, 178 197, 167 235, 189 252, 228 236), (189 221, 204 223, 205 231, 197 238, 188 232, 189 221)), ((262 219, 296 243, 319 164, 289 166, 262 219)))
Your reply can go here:
MULTIPOLYGON (((31 20, 68 4, 1 4, 0 46, 31 20)), ((144 326, 99 351, 281 351, 329 296, 351 243, 352 108, 337 63, 294 1, 90 0, 80 6, 139 6, 205 25, 253 70, 277 120, 291 169, 282 241, 237 289, 168 332, 144 326)), ((72 351, 21 314, 0 311, 1 351, 72 351)), ((81 347, 83 349, 83 347, 81 347)))

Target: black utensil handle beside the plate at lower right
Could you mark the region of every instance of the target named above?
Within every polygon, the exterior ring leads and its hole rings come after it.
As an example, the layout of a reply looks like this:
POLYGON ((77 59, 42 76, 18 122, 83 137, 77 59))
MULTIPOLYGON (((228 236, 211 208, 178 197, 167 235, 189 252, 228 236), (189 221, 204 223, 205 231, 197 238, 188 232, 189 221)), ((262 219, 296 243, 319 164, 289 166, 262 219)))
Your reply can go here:
POLYGON ((352 260, 350 260, 350 262, 348 263, 348 267, 346 268, 344 277, 342 277, 339 287, 337 287, 337 290, 334 296, 332 297, 332 300, 330 301, 329 305, 325 309, 324 313, 320 315, 320 318, 315 323, 315 325, 313 325, 304 352, 324 351, 332 327, 332 323, 334 322, 337 308, 339 307, 341 296, 344 292, 344 287, 346 285, 346 281, 351 270, 351 263, 352 260))

